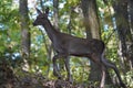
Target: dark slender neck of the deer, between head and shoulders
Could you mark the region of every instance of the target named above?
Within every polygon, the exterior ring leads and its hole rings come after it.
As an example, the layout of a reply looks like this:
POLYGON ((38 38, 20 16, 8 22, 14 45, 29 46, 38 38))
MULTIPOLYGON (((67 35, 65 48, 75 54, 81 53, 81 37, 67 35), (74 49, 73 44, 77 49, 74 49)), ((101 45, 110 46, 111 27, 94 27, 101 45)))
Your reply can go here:
POLYGON ((51 24, 51 22, 49 20, 43 22, 43 28, 44 28, 45 32, 48 33, 48 36, 50 37, 50 40, 53 42, 54 38, 58 37, 60 32, 53 28, 53 25, 51 24))

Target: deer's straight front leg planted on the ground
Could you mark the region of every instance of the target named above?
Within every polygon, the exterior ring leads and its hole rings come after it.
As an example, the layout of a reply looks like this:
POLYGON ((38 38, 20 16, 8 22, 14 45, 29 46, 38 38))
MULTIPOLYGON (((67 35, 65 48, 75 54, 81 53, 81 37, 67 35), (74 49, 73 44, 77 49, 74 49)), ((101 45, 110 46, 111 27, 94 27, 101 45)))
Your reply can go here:
POLYGON ((70 72, 70 58, 69 57, 65 57, 64 64, 65 64, 66 73, 68 73, 68 80, 72 84, 73 80, 72 80, 72 76, 70 72))

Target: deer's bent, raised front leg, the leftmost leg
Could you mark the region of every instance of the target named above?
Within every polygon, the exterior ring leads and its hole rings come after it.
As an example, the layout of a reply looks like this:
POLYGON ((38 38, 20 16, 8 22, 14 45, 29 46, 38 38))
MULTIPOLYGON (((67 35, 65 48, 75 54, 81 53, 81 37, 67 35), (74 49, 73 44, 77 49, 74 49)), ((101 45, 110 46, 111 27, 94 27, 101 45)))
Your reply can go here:
POLYGON ((53 62, 53 75, 58 76, 59 79, 61 79, 61 75, 59 74, 58 65, 57 65, 57 59, 60 57, 60 55, 55 55, 52 59, 53 62))

